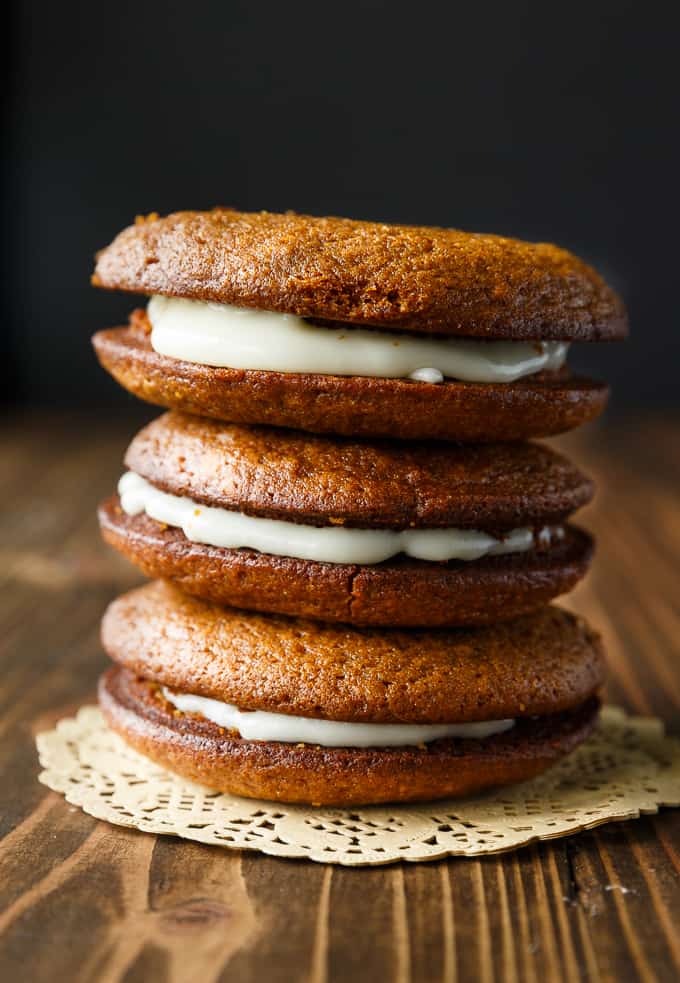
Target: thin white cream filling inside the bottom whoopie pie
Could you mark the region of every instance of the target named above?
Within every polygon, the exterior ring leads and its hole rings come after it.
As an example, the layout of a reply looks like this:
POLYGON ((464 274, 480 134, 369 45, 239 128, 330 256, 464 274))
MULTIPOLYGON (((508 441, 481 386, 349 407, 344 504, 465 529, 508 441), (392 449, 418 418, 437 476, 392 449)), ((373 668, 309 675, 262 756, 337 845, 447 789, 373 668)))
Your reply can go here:
POLYGON ((169 703, 184 713, 200 713, 226 730, 237 730, 246 741, 283 741, 322 747, 404 747, 443 737, 490 737, 502 734, 514 720, 483 720, 470 724, 353 724, 315 720, 264 710, 239 710, 231 703, 163 688, 169 703))

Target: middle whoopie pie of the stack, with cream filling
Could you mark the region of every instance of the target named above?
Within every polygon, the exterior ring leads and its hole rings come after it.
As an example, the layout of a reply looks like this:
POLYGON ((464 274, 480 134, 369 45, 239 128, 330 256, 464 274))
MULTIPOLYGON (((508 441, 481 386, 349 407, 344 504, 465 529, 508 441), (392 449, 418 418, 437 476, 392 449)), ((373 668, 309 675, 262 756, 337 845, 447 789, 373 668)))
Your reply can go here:
POLYGON ((257 611, 488 624, 569 591, 592 483, 548 447, 379 442, 177 412, 128 448, 104 538, 151 577, 257 611))

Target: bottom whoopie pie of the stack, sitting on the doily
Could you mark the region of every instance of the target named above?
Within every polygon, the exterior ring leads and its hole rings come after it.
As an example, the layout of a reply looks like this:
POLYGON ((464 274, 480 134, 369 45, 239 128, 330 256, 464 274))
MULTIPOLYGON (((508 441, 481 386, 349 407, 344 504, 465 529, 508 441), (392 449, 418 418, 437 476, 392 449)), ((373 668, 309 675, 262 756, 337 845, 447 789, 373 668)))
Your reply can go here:
POLYGON ((167 582, 109 607, 109 725, 210 787, 315 805, 468 795, 531 778, 596 720, 597 636, 555 607, 455 631, 231 610, 167 582))

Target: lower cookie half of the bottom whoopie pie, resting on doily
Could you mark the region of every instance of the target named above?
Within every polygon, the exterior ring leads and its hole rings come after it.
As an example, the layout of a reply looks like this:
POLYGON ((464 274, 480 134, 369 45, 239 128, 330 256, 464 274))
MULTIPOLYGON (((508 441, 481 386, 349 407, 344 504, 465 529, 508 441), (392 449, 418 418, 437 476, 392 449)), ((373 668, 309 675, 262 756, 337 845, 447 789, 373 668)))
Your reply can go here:
POLYGON ((102 677, 99 699, 108 723, 129 744, 193 781, 251 798, 338 806, 426 801, 524 781, 581 743, 598 710, 592 698, 483 740, 324 748, 245 741, 180 713, 153 684, 118 668, 102 677))

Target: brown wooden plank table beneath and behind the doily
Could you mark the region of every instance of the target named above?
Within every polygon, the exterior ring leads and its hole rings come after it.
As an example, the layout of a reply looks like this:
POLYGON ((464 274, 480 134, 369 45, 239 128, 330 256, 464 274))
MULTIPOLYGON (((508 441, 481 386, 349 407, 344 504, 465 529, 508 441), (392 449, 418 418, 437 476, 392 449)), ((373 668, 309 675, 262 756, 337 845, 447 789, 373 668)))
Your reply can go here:
MULTIPOLYGON (((150 411, 149 415, 153 415, 150 411)), ((98 539, 139 419, 10 419, 0 451, 0 976, 17 981, 680 979, 680 810, 482 860, 342 869, 97 822, 33 744, 92 701, 98 621, 138 581, 98 539)), ((680 731, 679 429, 590 427, 609 697, 680 731)))

